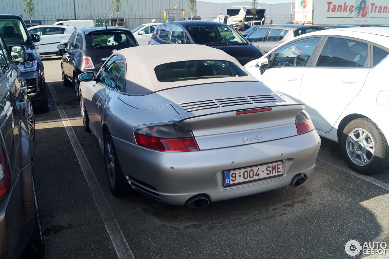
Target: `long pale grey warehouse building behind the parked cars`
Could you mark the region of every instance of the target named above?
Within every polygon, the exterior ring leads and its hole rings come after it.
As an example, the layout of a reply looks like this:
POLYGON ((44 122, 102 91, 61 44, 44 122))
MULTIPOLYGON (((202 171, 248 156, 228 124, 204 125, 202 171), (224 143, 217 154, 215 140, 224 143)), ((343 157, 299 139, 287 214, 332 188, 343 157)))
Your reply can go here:
MULTIPOLYGON (((121 2, 121 10, 118 13, 119 26, 130 29, 150 23, 152 19, 163 22, 165 9, 177 9, 166 12, 165 18, 168 20, 182 20, 183 12, 178 9, 185 9, 184 17, 190 19, 191 16, 186 0, 121 0, 121 2)), ((240 9, 237 6, 251 5, 251 1, 224 2, 226 1, 198 0, 195 16, 198 19, 212 21, 220 14, 234 15, 240 9)), ((264 23, 293 21, 294 7, 291 0, 259 2, 261 3, 258 3, 258 14, 262 14, 260 17, 264 23)), ((93 19, 96 26, 112 26, 116 22, 116 13, 111 9, 111 0, 34 0, 34 3, 36 12, 31 19, 40 20, 45 25, 69 19, 93 19)), ((27 21, 29 17, 23 11, 23 6, 22 0, 2 0, 4 14, 18 14, 27 21)))

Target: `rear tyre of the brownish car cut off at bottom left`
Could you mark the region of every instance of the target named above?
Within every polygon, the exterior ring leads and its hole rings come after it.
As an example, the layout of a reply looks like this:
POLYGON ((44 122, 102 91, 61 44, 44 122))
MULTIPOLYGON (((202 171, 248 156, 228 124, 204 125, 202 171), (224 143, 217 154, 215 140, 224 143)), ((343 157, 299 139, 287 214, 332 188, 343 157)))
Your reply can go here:
POLYGON ((30 240, 21 255, 21 258, 27 259, 40 259, 43 258, 45 254, 45 245, 43 241, 42 226, 40 225, 39 210, 37 196, 35 193, 35 186, 33 184, 34 191, 34 201, 35 201, 35 220, 34 220, 34 229, 31 234, 30 240))

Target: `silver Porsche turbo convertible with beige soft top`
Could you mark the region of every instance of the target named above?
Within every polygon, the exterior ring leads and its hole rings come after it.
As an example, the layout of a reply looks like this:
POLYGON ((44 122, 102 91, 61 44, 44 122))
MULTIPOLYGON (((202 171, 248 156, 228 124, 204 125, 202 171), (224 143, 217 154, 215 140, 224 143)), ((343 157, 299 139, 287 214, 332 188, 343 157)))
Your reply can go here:
POLYGON ((314 170, 320 138, 304 105, 219 49, 123 49, 79 80, 84 128, 98 138, 113 194, 130 184, 156 200, 202 207, 297 186, 314 170))

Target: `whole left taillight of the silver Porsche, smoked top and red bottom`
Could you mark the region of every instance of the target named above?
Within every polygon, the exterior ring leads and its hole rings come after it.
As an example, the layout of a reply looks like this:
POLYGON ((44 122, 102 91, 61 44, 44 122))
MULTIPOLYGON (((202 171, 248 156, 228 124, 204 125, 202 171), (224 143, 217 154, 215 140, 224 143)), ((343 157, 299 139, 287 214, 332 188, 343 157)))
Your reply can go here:
POLYGON ((134 129, 137 145, 158 151, 199 150, 195 137, 188 129, 176 124, 137 126, 134 129))

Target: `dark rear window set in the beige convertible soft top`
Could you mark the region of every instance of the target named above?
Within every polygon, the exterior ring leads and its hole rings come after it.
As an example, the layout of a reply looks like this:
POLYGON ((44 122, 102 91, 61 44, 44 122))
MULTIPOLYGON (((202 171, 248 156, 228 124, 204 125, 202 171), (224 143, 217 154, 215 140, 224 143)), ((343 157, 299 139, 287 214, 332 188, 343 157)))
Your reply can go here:
POLYGON ((234 63, 222 60, 193 60, 166 63, 156 66, 155 73, 159 82, 247 76, 234 63))

